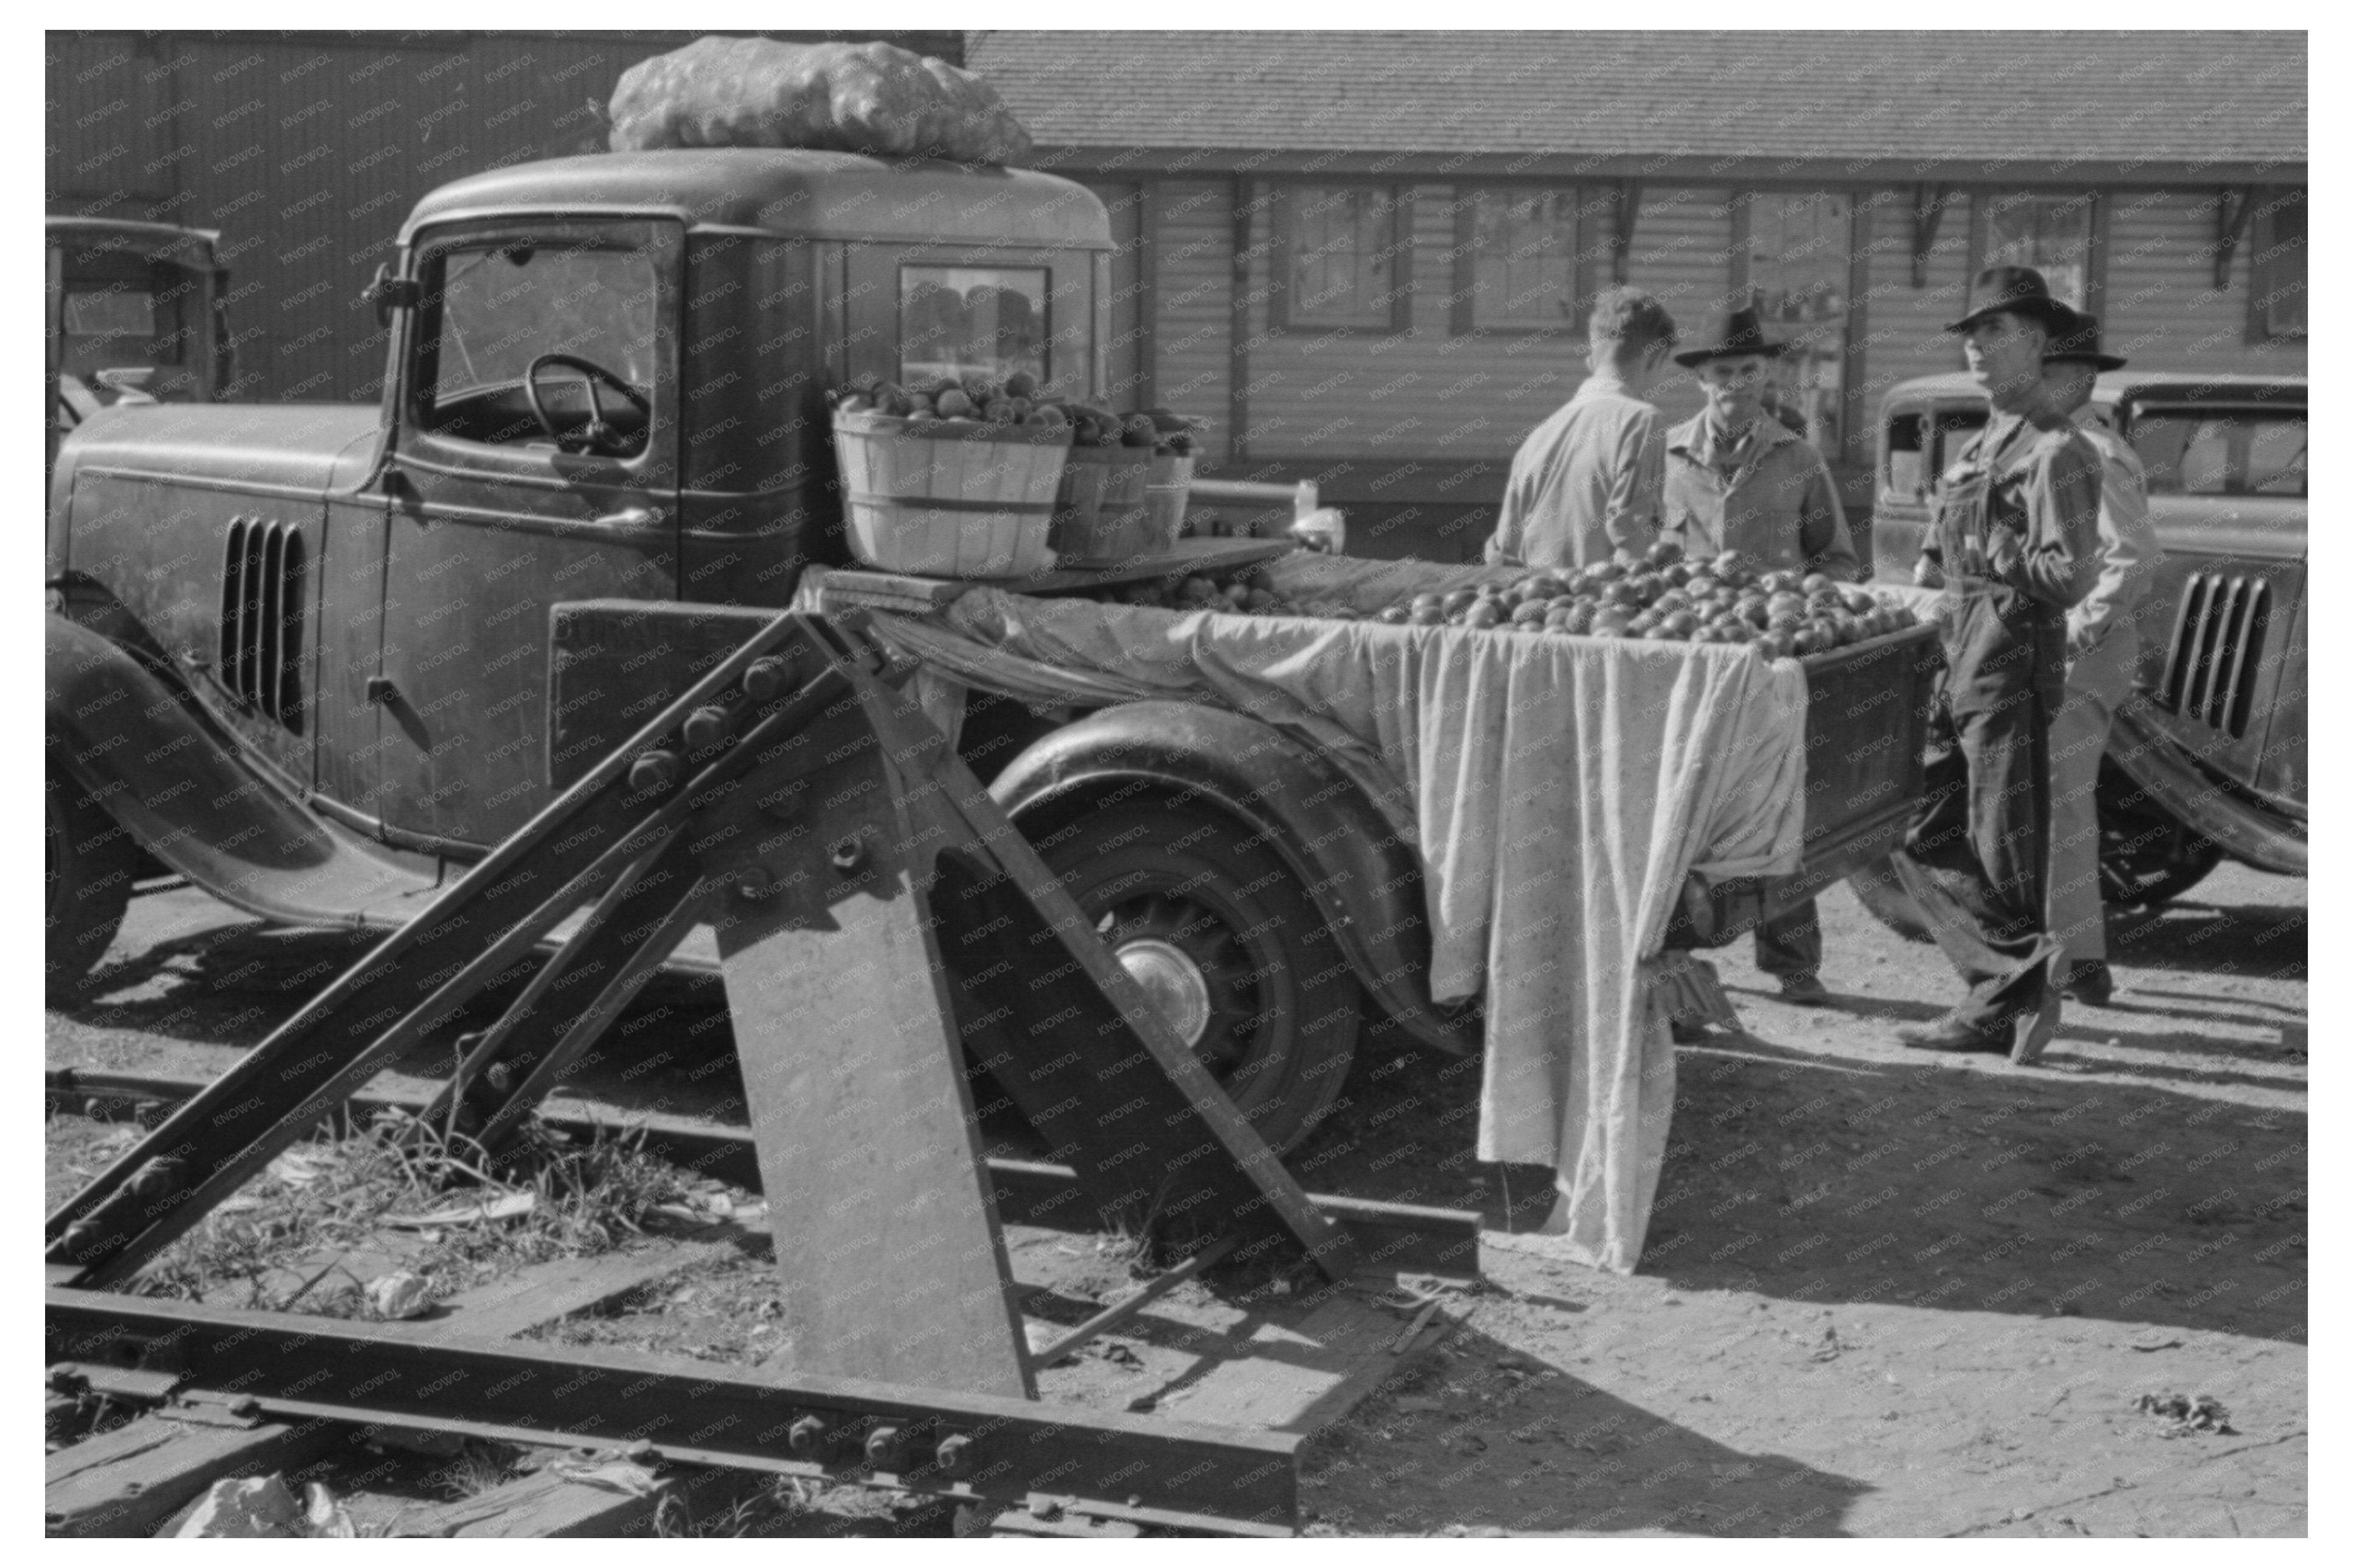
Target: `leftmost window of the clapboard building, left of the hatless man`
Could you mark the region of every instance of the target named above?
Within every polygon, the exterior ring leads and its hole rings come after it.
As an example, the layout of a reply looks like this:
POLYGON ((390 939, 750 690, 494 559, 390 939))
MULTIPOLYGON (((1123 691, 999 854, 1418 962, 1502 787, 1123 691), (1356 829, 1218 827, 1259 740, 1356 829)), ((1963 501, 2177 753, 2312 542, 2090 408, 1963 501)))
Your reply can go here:
POLYGON ((1405 331, 1412 249, 1391 186, 1285 186, 1275 195, 1278 329, 1405 331))

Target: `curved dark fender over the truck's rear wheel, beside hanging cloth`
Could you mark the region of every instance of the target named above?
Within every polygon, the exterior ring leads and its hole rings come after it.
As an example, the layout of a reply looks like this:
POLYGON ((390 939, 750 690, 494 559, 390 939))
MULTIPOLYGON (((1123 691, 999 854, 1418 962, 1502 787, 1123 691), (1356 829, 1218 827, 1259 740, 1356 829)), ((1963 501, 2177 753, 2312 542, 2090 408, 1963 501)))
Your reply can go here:
POLYGON ((1221 708, 1120 703, 1033 743, 988 790, 1033 842, 1139 795, 1224 811, 1282 856, 1384 1013, 1440 1051, 1480 1048, 1478 1009, 1431 999, 1419 853, 1313 748, 1221 708))

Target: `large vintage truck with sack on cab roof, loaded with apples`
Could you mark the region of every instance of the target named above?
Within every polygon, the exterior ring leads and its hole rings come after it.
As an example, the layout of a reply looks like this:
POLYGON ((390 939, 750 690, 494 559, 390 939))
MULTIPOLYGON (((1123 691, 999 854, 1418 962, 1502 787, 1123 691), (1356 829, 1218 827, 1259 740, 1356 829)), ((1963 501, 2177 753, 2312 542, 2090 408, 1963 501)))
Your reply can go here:
MULTIPOLYGON (((407 919, 579 764, 558 604, 786 607, 849 562, 826 390, 946 362, 1106 388, 1111 244, 1092 193, 1035 172, 513 165, 424 197, 369 287, 379 407, 92 414, 49 494, 52 990, 153 863, 268 919, 407 919)), ((1271 1145, 1332 1105, 1367 1020, 1478 1048, 1475 1006, 1428 992, 1414 846, 1329 757, 1172 703, 974 701, 960 745, 1271 1145)), ((1906 780, 1824 778, 1859 804, 1809 806, 1807 872, 1845 875, 1906 780)))

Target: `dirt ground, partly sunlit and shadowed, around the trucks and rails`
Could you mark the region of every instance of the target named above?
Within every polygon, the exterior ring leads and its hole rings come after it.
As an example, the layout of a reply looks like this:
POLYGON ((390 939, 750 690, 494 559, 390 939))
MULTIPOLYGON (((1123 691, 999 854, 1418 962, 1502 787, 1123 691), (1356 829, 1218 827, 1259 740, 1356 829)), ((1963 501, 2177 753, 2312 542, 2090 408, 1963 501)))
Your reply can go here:
MULTIPOLYGON (((1835 1011, 1777 1001, 1746 945, 1715 954, 1746 1030, 1680 1051, 1640 1272, 1487 1248, 1438 1347, 1315 1432, 1311 1533, 2306 1530, 2306 884, 2226 867, 2113 931, 2113 1006, 2071 1004, 2033 1070, 1897 1048, 1892 1025, 1941 1011, 1951 973, 1845 889, 1824 929, 1835 1011)), ((106 987, 47 1016, 47 1060, 219 1072, 355 952, 191 891, 144 898, 106 987)), ((678 1027, 715 1004, 664 985, 635 1034, 654 1046, 581 1093, 718 1105, 725 1030, 678 1027)), ((402 1070, 435 1065, 426 1048, 402 1070)), ((1532 1225, 1548 1173, 1471 1159, 1475 1079, 1367 1046, 1294 1173, 1532 1225)), ((104 1138, 52 1117, 52 1201, 104 1138)), ((1068 1321, 1125 1276, 1087 1237, 1016 1237, 1014 1255, 1068 1321)), ((758 1361, 767 1267, 729 1260, 553 1335, 758 1361)), ((1240 1288, 1174 1305, 1233 1314, 1240 1288)), ((1158 1378, 1139 1331, 1045 1394, 1151 1408, 1158 1378)))

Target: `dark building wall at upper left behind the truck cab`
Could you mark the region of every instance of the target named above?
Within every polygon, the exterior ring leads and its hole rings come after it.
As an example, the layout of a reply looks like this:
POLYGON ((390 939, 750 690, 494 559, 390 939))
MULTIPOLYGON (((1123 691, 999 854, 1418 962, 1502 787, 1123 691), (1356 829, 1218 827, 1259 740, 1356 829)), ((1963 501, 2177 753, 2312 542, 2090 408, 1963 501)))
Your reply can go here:
MULTIPOLYGON (((605 150, 621 71, 701 33, 47 33, 52 214, 219 228, 235 393, 374 402, 360 289, 426 190, 605 150)), ((962 59, 962 33, 882 38, 962 59)))

